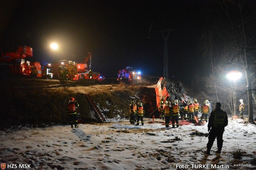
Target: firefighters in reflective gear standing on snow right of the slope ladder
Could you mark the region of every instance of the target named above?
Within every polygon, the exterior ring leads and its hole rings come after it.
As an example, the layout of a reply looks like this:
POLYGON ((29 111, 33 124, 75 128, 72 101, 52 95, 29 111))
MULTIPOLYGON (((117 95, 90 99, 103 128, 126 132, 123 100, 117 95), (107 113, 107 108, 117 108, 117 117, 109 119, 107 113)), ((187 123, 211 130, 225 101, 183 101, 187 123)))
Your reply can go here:
MULTIPOLYGON (((240 101, 239 111, 241 119, 244 119, 243 111, 244 111, 244 103, 243 100, 240 101)), ((133 100, 130 104, 130 122, 134 124, 137 118, 137 124, 141 120, 141 124, 144 125, 143 115, 144 115, 144 108, 142 103, 139 102, 136 104, 136 101, 133 100), (138 104, 138 106, 137 106, 138 104)), ((172 100, 171 101, 160 101, 159 103, 160 108, 159 112, 161 113, 160 119, 165 119, 165 127, 169 127, 170 121, 172 120, 172 128, 176 126, 179 127, 179 120, 188 120, 191 122, 195 122, 195 116, 198 117, 198 113, 201 110, 201 118, 198 119, 199 122, 208 122, 209 114, 212 112, 212 106, 209 100, 205 100, 202 106, 199 105, 197 100, 194 100, 192 103, 191 100, 188 100, 187 103, 184 101, 179 100, 172 100)))

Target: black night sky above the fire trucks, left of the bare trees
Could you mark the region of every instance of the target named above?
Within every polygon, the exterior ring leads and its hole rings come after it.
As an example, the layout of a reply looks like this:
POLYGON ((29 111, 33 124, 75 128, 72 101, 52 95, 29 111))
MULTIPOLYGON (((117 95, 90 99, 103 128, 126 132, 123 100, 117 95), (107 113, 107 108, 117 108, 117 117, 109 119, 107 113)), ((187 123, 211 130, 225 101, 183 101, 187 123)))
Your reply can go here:
POLYGON ((116 78, 131 66, 142 74, 164 74, 164 40, 158 31, 174 29, 168 40, 169 75, 182 79, 193 69, 204 31, 205 1, 1 1, 1 49, 27 45, 28 61, 50 63, 51 42, 59 44, 55 60, 82 62, 92 52, 92 71, 116 78), (4 7, 4 8, 3 8, 4 7), (151 32, 149 29, 153 21, 151 32), (150 36, 150 37, 149 37, 150 36))

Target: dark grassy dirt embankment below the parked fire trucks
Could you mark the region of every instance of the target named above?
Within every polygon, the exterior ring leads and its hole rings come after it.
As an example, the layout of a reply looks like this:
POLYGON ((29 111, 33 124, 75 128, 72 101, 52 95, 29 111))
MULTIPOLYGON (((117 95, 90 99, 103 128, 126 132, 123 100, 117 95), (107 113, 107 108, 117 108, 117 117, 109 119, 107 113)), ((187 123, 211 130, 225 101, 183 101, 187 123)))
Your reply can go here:
POLYGON ((77 82, 71 85, 47 88, 58 85, 58 80, 4 79, 1 80, 0 95, 4 96, 1 111, 1 129, 13 125, 68 123, 66 104, 72 96, 79 103, 81 122, 97 122, 85 94, 91 95, 96 105, 107 118, 129 116, 131 100, 142 101, 146 116, 155 110, 155 90, 152 86, 106 85, 95 82, 77 82))

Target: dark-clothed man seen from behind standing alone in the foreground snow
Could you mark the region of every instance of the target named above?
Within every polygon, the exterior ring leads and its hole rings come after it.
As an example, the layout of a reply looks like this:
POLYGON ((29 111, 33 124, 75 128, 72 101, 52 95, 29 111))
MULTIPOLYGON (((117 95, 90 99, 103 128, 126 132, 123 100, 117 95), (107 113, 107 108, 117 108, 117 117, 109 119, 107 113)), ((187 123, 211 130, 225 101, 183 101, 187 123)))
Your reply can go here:
POLYGON ((216 103, 215 109, 211 112, 209 123, 208 123, 208 143, 207 143, 207 151, 205 152, 207 155, 211 155, 210 150, 212 148, 212 144, 217 137, 217 147, 218 150, 216 153, 221 152, 222 144, 223 144, 223 133, 225 127, 228 125, 228 116, 227 113, 220 109, 221 104, 219 102, 216 103))

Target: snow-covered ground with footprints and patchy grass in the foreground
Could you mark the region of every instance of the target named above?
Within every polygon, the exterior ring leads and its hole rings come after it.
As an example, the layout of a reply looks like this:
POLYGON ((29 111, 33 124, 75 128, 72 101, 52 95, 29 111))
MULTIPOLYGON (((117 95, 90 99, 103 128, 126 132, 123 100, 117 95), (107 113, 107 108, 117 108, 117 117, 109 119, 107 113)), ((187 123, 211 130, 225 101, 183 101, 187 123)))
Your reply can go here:
POLYGON ((256 169, 255 125, 229 119, 221 154, 207 156, 207 123, 166 129, 156 120, 146 119, 144 126, 124 120, 79 124, 78 129, 59 125, 0 131, 0 162, 6 169, 10 164, 30 164, 31 169, 256 169), (235 151, 243 153, 241 159, 233 158, 235 151))

